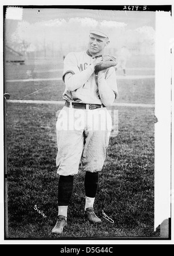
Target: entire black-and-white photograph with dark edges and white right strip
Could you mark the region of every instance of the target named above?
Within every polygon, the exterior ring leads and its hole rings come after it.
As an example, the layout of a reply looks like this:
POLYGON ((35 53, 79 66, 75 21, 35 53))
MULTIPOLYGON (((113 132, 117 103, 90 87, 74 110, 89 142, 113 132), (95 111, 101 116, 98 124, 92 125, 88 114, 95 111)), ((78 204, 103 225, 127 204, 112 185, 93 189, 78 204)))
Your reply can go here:
POLYGON ((3 6, 5 240, 171 239, 171 17, 3 6))

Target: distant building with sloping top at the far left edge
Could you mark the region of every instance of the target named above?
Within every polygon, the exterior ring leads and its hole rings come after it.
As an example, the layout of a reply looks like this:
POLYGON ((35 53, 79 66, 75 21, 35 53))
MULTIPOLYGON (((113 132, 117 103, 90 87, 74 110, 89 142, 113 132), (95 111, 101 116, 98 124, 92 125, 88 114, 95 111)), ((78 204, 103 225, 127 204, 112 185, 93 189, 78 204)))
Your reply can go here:
POLYGON ((8 63, 20 63, 24 64, 25 57, 20 52, 15 51, 13 48, 6 45, 5 61, 8 63))

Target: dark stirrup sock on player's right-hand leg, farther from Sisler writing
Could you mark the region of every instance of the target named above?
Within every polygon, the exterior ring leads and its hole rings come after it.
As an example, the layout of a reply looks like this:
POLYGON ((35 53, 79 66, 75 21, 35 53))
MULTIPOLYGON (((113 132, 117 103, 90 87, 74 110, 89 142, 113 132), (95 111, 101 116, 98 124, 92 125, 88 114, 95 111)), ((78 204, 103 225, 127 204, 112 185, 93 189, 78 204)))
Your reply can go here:
POLYGON ((99 172, 85 173, 85 195, 86 197, 96 197, 99 183, 99 172))

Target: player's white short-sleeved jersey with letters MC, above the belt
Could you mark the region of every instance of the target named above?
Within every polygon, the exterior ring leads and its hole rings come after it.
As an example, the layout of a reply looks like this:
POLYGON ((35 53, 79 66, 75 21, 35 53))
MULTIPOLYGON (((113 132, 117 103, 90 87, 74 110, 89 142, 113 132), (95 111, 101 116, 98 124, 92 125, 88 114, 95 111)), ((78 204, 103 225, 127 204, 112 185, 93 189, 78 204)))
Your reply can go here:
MULTIPOLYGON (((95 57, 90 55, 89 51, 71 52, 64 59, 63 80, 64 76, 68 72, 78 74, 88 69, 90 73, 91 70, 89 67, 94 60, 95 57)), ((63 99, 66 99, 67 101, 76 101, 86 104, 102 104, 102 102, 100 101, 100 95, 95 80, 95 73, 91 73, 92 75, 89 77, 88 81, 86 81, 84 86, 78 88, 75 91, 69 91, 66 85, 65 91, 63 93, 63 99)), ((112 88, 114 93, 117 95, 117 80, 114 67, 110 67, 110 69, 106 70, 105 79, 107 81, 107 84, 112 88)))

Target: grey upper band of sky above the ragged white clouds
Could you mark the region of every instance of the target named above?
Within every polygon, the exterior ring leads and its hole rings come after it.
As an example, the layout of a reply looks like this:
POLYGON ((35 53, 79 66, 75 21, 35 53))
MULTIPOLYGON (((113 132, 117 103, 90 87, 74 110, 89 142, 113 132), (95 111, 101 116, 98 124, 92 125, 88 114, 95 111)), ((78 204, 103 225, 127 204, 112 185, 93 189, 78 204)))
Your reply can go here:
POLYGON ((92 10, 92 9, 23 9, 23 20, 35 23, 42 20, 70 19, 72 17, 89 17, 99 21, 112 20, 125 23, 128 29, 151 26, 155 29, 155 12, 139 12, 124 10, 92 10))

